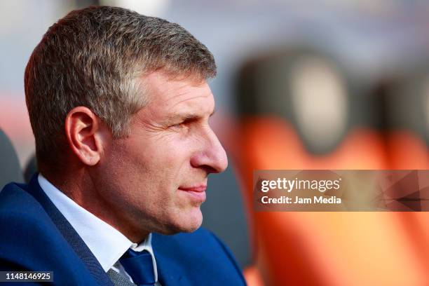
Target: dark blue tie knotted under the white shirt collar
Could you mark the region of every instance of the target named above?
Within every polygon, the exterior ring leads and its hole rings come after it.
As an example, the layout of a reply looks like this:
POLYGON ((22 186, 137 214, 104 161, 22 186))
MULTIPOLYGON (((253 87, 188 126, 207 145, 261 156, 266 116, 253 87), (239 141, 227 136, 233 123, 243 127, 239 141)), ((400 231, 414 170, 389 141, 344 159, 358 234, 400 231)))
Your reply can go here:
POLYGON ((125 271, 137 285, 154 285, 155 274, 152 256, 147 250, 135 252, 128 249, 119 259, 125 271))

